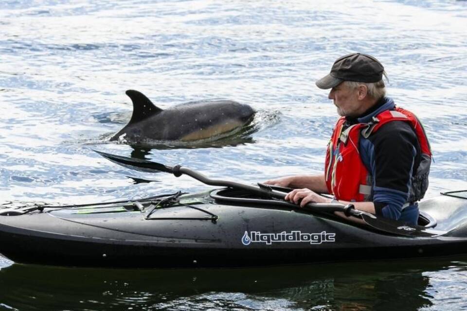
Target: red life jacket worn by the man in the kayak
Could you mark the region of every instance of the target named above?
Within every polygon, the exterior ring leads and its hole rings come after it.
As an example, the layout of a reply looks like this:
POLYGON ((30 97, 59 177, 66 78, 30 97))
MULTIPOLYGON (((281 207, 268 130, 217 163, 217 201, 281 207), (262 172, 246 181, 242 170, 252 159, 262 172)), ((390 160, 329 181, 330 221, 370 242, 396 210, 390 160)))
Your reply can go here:
POLYGON ((368 201, 372 194, 373 176, 368 172, 359 155, 360 135, 368 138, 381 126, 391 121, 406 121, 411 124, 420 143, 421 162, 412 176, 407 202, 423 198, 428 188, 431 150, 425 131, 415 115, 402 108, 386 110, 373 117, 369 123, 357 123, 343 130, 345 117, 341 117, 329 141, 324 177, 327 190, 336 199, 352 202, 368 201))

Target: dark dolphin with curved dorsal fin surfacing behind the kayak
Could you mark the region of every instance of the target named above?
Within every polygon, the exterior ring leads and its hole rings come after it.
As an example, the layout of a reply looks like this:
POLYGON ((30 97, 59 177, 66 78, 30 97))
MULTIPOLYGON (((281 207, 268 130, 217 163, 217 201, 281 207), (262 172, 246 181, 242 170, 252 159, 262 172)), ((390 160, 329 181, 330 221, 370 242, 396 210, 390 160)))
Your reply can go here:
POLYGON ((126 126, 110 140, 194 141, 219 136, 247 125, 255 111, 234 101, 213 100, 178 104, 162 110, 143 93, 127 90, 133 114, 126 126))

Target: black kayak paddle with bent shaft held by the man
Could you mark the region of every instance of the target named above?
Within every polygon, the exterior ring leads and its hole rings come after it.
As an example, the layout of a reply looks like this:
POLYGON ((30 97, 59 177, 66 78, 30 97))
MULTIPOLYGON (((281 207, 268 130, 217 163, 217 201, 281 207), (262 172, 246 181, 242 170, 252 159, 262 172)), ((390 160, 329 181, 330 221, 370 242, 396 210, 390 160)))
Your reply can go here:
MULTIPOLYGON (((133 169, 137 171, 149 172, 149 173, 156 173, 156 172, 165 172, 165 173, 172 173, 176 177, 180 177, 182 174, 188 175, 193 177, 202 183, 210 186, 221 186, 221 187, 230 187, 235 189, 242 189, 248 190, 254 193, 267 195, 269 197, 274 197, 278 199, 284 200, 286 193, 282 191, 273 190, 269 187, 262 186, 253 186, 253 185, 246 185, 237 183, 234 181, 226 181, 220 179, 210 179, 205 175, 190 170, 189 168, 182 167, 180 165, 176 165, 174 167, 167 166, 161 163, 152 162, 149 160, 138 159, 133 157, 121 156, 121 155, 111 155, 108 153, 96 151, 99 155, 107 158, 108 160, 133 169)), ((325 203, 308 203, 305 208, 311 212, 335 212, 340 211, 343 212, 346 216, 354 216, 361 218, 367 225, 370 227, 377 229, 379 231, 395 234, 395 235, 402 235, 402 236, 410 236, 410 237, 433 237, 439 236, 444 234, 444 231, 437 231, 433 229, 428 229, 423 226, 419 225, 405 225, 402 222, 398 222, 395 220, 377 217, 371 213, 361 211, 355 209, 352 204, 343 205, 343 204, 325 204, 325 203)))

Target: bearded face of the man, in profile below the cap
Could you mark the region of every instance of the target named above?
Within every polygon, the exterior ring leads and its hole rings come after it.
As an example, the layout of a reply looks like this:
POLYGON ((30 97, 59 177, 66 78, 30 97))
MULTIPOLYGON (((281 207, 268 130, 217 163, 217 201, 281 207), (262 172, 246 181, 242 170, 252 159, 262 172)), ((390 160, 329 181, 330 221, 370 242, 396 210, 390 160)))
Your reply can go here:
POLYGON ((337 107, 337 113, 342 117, 357 117, 360 115, 361 103, 359 102, 359 89, 352 89, 341 83, 338 86, 331 88, 329 99, 337 107))

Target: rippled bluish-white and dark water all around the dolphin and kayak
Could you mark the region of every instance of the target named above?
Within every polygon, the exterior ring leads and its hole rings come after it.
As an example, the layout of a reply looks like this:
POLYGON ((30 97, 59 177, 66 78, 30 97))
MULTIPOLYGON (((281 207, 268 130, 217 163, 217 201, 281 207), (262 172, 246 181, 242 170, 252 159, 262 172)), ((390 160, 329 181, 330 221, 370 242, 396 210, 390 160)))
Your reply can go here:
MULTIPOLYGON (((455 0, 1 1, 0 203, 206 189, 91 149, 251 183, 321 172, 337 114, 314 81, 350 52, 375 55, 388 95, 423 121, 427 197, 467 189, 466 25, 455 0), (126 89, 161 108, 250 104, 254 131, 203 146, 111 143, 131 115, 126 89)), ((135 272, 0 259, 0 310, 462 310, 463 260, 135 272)))

